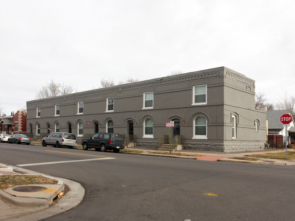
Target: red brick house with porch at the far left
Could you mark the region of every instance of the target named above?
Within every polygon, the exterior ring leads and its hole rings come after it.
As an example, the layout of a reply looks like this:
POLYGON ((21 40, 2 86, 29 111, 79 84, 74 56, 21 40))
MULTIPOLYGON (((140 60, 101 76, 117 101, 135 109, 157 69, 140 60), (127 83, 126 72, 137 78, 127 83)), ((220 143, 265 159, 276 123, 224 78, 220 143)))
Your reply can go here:
POLYGON ((16 114, 11 112, 11 115, 3 114, 0 117, 0 133, 5 134, 23 134, 26 129, 26 115, 24 111, 17 111, 16 114))

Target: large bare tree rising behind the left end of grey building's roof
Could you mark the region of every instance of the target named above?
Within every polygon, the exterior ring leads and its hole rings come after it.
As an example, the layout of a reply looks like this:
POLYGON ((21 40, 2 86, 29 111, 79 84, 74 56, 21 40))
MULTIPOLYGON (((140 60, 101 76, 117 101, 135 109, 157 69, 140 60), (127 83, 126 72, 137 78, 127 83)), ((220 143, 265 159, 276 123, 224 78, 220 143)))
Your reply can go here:
MULTIPOLYGON (((77 90, 78 88, 76 88, 77 90)), ((51 80, 46 85, 42 86, 42 89, 36 94, 35 99, 56 97, 59 95, 70 94, 74 90, 72 85, 66 85, 64 83, 55 83, 51 80)))

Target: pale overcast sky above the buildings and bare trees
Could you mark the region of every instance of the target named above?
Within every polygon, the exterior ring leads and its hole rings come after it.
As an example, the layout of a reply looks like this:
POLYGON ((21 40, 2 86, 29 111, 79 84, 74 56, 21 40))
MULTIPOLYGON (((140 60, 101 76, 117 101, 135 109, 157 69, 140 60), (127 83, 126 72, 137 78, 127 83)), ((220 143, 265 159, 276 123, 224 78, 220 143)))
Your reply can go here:
POLYGON ((1 107, 53 79, 78 91, 225 66, 276 103, 295 95, 293 0, 0 0, 1 107))

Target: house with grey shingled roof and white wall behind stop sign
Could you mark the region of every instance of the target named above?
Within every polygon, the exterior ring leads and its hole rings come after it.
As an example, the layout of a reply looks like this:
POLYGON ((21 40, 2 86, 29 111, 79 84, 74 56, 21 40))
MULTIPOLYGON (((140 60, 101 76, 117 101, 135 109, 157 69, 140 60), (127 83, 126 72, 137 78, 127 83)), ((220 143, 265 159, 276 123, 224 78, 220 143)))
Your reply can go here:
MULTIPOLYGON (((286 125, 282 124, 280 120, 283 114, 289 114, 292 116, 292 112, 290 110, 266 111, 266 120, 268 121, 268 135, 286 136, 286 125)), ((295 140, 294 125, 294 117, 292 116, 292 122, 287 124, 287 136, 290 136, 291 143, 294 143, 295 140)))

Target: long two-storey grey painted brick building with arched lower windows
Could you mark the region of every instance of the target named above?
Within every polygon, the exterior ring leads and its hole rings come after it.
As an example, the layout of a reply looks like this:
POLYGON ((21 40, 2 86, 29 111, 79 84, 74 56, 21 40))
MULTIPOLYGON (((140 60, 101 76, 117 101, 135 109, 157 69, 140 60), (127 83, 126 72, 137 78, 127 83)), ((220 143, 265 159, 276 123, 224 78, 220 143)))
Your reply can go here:
MULTIPOLYGON (((27 101, 34 138, 68 132, 77 140, 97 132, 136 135, 138 146, 183 136, 183 149, 259 150, 266 144, 266 112, 257 111, 255 81, 225 67, 27 101)), ((78 143, 78 142, 77 142, 78 143)))

